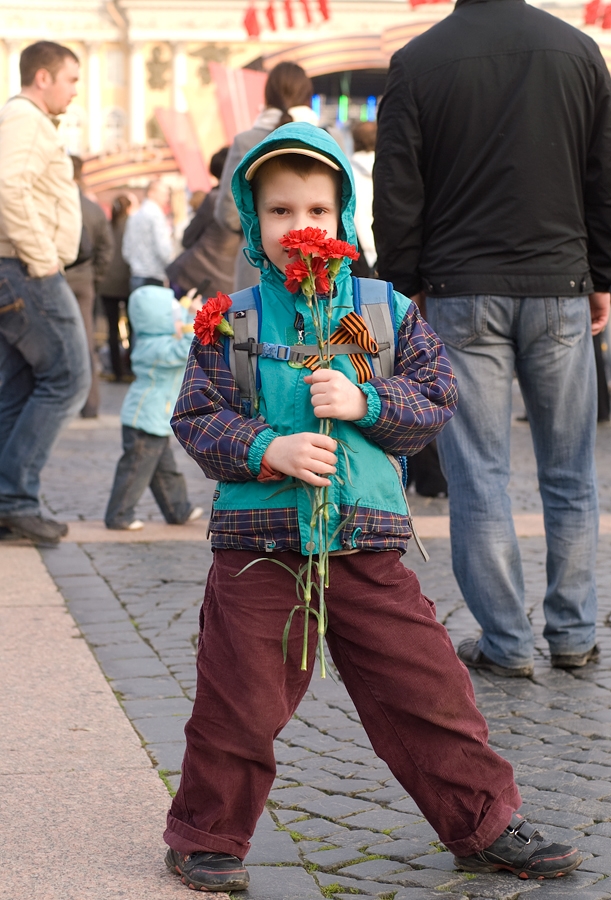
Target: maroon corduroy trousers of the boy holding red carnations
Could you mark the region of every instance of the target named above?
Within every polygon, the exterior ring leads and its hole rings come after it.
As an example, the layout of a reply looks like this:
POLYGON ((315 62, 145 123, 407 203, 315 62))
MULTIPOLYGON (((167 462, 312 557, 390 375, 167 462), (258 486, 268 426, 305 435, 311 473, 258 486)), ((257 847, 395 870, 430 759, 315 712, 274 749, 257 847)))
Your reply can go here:
MULTIPOLYGON (((164 835, 170 847, 243 858, 275 776, 273 740, 303 697, 303 618, 286 664, 282 633, 295 582, 260 554, 219 550, 200 614, 197 694, 185 728, 180 788, 164 835)), ((270 557, 274 558, 274 557, 270 557)), ((277 554, 294 571, 303 557, 277 554)), ((331 560, 327 644, 375 752, 452 852, 492 843, 521 805, 509 763, 487 744, 466 668, 397 551, 331 560)))

